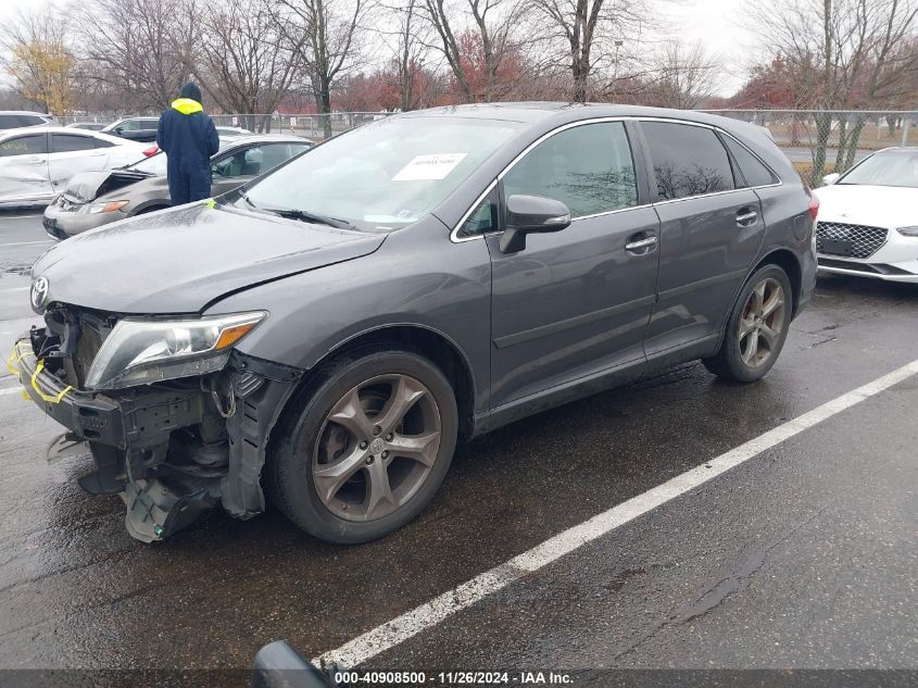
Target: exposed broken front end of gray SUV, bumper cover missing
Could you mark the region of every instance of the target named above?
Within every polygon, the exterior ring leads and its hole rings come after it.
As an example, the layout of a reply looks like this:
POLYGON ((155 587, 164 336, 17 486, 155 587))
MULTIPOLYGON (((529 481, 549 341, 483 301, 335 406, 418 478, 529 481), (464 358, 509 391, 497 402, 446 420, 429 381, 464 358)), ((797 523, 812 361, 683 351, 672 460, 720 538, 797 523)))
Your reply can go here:
POLYGON ((268 437, 302 371, 234 349, 217 372, 91 390, 87 372, 118 315, 54 304, 45 321, 16 342, 12 372, 67 428, 49 451, 91 451, 79 484, 118 495, 133 537, 162 540, 217 502, 237 518, 264 510, 268 437))

